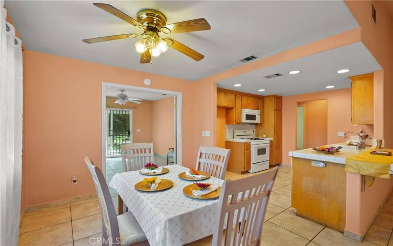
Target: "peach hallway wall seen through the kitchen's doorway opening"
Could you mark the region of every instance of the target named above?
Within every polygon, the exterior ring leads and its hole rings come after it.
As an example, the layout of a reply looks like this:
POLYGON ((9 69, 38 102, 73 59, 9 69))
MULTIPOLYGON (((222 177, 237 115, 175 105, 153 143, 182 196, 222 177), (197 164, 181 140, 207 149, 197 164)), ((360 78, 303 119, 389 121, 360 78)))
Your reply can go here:
POLYGON ((326 145, 328 143, 328 100, 304 101, 298 102, 297 105, 306 106, 305 149, 326 145))

